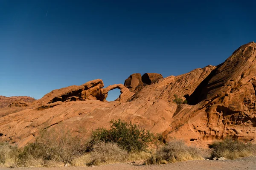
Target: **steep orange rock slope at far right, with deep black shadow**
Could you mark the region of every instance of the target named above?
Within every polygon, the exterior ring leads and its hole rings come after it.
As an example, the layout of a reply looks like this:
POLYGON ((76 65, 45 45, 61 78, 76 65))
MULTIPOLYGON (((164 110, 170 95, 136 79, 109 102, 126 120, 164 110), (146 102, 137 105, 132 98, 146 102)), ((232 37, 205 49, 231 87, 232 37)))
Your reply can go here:
POLYGON ((227 136, 254 141, 256 138, 256 43, 238 48, 212 71, 189 97, 194 101, 167 138, 187 136, 191 141, 211 142, 227 136))

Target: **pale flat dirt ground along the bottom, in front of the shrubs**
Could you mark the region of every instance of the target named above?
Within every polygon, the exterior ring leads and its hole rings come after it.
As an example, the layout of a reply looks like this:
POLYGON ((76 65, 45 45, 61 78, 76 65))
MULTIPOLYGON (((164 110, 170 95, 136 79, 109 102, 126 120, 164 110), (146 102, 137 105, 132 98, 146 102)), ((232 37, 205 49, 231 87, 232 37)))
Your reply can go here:
MULTIPOLYGON (((13 170, 256 170, 256 157, 224 161, 184 161, 161 165, 109 164, 95 167, 30 167, 13 170)), ((10 170, 0 167, 0 170, 10 170)))

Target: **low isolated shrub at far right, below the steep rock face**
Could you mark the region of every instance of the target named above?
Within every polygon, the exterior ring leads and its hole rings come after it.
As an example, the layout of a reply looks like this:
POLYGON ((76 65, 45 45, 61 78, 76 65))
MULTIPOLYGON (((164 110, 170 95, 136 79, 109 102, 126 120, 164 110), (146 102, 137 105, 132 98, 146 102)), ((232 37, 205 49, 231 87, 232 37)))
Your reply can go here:
POLYGON ((210 148, 212 148, 212 158, 236 159, 252 155, 251 144, 245 144, 238 140, 224 139, 221 142, 212 143, 210 148))

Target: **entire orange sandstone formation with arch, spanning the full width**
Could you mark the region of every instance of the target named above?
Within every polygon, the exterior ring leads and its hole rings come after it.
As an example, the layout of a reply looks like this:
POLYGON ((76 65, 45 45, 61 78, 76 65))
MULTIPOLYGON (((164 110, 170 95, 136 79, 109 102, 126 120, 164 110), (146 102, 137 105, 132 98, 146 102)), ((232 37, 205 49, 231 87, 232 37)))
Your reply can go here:
POLYGON ((256 43, 250 42, 221 65, 208 65, 177 77, 146 74, 151 83, 144 83, 140 74, 134 74, 125 85, 103 88, 102 80, 97 79, 54 90, 25 110, 0 117, 0 141, 21 147, 33 142, 40 129, 59 126, 74 133, 84 127, 82 136, 87 139, 91 130, 108 127, 111 119, 120 118, 161 133, 166 141, 175 137, 207 147, 214 140, 232 136, 256 142, 255 58, 256 43), (108 91, 115 88, 121 91, 119 98, 105 102, 108 91), (173 102, 175 94, 188 104, 173 102))

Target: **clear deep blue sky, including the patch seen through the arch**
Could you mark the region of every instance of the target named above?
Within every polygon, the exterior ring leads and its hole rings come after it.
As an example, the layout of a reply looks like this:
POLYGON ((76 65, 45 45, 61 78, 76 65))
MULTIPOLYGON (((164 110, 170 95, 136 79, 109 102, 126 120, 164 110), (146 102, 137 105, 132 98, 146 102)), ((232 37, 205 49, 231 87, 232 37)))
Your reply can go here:
MULTIPOLYGON (((0 95, 179 75, 256 41, 255 0, 0 0, 0 95)), ((109 93, 113 100, 119 91, 109 93)))

